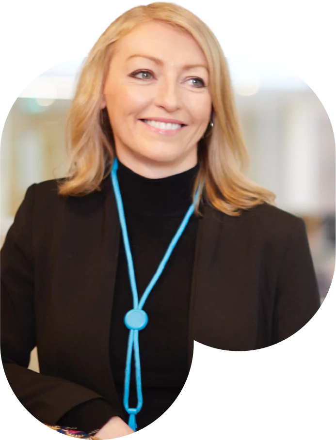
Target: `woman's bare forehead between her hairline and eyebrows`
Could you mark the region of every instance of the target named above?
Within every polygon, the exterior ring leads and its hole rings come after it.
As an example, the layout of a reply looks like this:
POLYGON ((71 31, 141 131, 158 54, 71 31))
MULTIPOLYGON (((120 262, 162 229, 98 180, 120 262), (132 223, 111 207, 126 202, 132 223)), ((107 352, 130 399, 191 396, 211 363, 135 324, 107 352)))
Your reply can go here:
POLYGON ((170 25, 153 20, 138 24, 116 43, 116 50, 127 59, 132 53, 146 50, 158 58, 165 54, 186 61, 198 61, 207 64, 206 57, 191 34, 170 25))

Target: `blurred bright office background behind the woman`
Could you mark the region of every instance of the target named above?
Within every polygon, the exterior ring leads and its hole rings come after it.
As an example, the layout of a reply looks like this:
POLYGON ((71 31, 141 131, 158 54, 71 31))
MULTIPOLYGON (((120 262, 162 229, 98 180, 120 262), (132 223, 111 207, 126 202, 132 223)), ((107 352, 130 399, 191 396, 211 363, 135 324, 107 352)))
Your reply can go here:
MULTIPOLYGON (((201 15, 201 8, 193 10, 201 15)), ((325 306, 336 271, 333 118, 318 91, 290 66, 259 55, 233 54, 215 32, 227 57, 250 154, 247 176, 271 189, 280 209, 304 219, 325 306)), ((66 174, 65 115, 93 43, 78 58, 40 70, 12 98, 0 137, 0 249, 27 188, 66 174)), ((39 371, 36 347, 29 368, 39 371)))

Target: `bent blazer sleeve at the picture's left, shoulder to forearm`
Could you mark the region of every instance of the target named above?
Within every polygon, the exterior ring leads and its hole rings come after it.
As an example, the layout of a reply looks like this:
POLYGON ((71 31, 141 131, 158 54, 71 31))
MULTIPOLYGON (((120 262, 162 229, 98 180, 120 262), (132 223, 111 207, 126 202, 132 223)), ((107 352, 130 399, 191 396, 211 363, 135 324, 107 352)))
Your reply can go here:
MULTIPOLYGON (((27 189, 0 250, 0 361, 8 390, 21 408, 35 421, 55 425, 70 409, 102 396, 64 378, 28 368, 31 351, 36 346, 32 252, 35 185, 27 189)), ((96 405, 98 408, 101 403, 96 405)), ((122 417, 118 409, 110 407, 106 411, 106 405, 104 417, 96 418, 99 423, 105 424, 106 416, 122 417)), ((79 414, 80 410, 76 411, 79 414)), ((85 415, 87 412, 83 409, 85 415)), ((83 418, 74 418, 74 422, 77 420, 83 418)), ((73 427, 82 430, 76 423, 73 427)), ((101 426, 94 429, 98 427, 101 426)))

